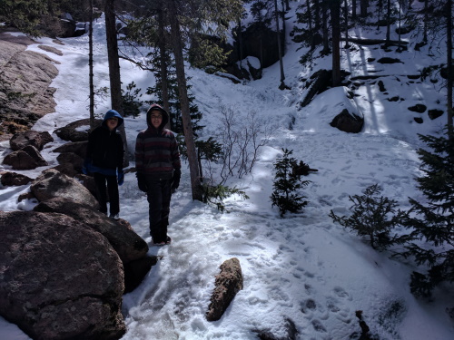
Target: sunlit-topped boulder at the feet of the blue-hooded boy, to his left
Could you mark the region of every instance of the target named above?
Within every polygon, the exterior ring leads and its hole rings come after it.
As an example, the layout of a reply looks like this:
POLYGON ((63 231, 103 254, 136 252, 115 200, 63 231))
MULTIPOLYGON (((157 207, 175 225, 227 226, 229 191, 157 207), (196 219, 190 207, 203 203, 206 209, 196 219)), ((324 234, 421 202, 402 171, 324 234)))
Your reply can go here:
POLYGON ((64 173, 48 169, 44 170, 30 186, 35 198, 43 202, 47 199, 64 198, 87 204, 94 209, 99 207, 98 201, 78 180, 64 173))

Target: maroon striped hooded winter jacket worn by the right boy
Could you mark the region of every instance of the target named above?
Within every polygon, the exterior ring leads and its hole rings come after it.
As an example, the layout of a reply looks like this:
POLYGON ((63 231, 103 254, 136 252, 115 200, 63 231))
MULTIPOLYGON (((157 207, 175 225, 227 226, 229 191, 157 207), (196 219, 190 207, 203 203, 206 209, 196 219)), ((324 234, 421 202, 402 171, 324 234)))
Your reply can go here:
POLYGON ((135 142, 135 167, 144 175, 166 175, 171 178, 173 170, 182 167, 178 143, 172 131, 164 129, 169 121, 169 114, 159 105, 153 105, 146 114, 148 129, 140 131, 135 142), (153 110, 163 114, 163 121, 158 129, 151 122, 153 110))

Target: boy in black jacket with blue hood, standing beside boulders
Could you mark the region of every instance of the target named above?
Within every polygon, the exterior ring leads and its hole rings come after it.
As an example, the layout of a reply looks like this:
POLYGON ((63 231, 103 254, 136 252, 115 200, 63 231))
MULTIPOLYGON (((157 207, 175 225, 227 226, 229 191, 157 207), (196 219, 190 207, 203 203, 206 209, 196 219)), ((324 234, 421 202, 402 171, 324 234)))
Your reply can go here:
POLYGON ((119 219, 120 198, 118 185, 123 184, 123 139, 117 131, 123 124, 120 113, 109 110, 101 126, 88 136, 84 160, 84 174, 93 173, 99 211, 107 215, 107 192, 109 193, 110 218, 119 219), (107 183, 107 188, 106 188, 107 183))

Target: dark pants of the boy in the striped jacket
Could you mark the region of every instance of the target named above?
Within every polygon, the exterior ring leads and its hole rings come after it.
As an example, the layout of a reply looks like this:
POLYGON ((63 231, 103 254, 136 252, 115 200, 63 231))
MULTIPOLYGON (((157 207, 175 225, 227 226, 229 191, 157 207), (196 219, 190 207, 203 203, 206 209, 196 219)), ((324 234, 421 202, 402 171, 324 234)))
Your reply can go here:
POLYGON ((154 243, 167 241, 167 226, 171 201, 172 174, 163 176, 147 175, 147 200, 150 219, 150 235, 154 243))

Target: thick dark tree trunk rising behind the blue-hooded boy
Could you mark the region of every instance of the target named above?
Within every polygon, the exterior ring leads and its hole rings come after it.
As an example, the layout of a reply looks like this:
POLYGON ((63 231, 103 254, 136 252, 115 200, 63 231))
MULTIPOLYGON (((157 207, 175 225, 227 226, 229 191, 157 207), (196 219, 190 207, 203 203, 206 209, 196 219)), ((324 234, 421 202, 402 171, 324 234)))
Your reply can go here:
MULTIPOLYGON (((123 117, 122 101, 122 82, 120 80, 120 60, 118 58, 118 42, 116 37, 114 0, 105 0, 105 35, 107 39, 107 57, 109 58, 109 80, 111 85, 111 105, 112 109, 120 113, 123 117)), ((124 124, 119 129, 123 138, 123 147, 126 155, 128 153, 128 143, 124 124)), ((129 157, 124 157, 123 166, 128 166, 129 157)))

